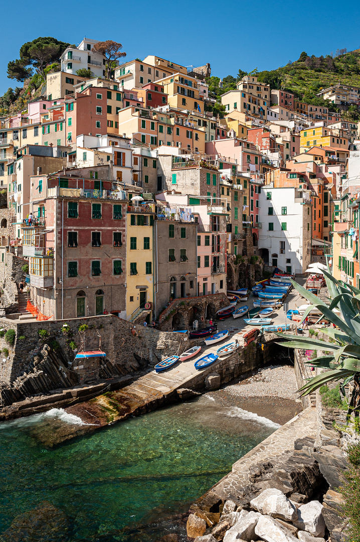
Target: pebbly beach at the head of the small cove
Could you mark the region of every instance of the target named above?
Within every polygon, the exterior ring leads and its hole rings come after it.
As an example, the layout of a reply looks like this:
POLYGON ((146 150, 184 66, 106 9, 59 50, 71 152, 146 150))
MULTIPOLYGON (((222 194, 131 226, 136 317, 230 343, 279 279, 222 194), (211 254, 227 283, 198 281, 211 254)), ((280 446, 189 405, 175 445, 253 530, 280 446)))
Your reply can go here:
POLYGON ((224 406, 239 406, 283 425, 302 411, 292 365, 270 365, 208 392, 224 406))

